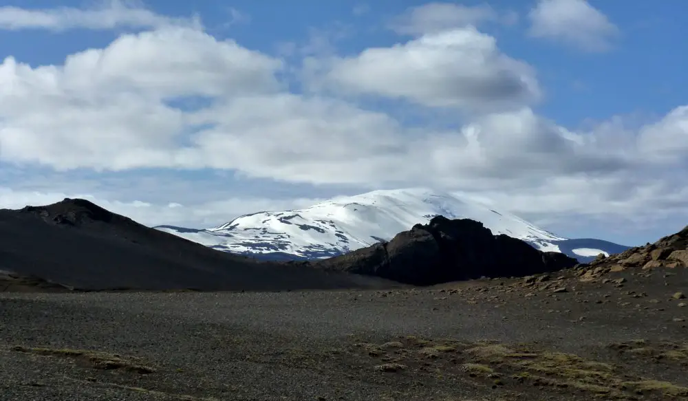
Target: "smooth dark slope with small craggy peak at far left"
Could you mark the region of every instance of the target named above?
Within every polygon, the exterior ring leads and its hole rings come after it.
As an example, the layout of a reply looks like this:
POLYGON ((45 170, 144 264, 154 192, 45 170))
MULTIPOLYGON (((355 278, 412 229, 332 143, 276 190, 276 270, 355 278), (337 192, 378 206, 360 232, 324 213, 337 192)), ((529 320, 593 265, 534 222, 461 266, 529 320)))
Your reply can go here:
POLYGON ((257 262, 148 228, 83 199, 0 210, 0 270, 85 290, 296 290, 390 283, 257 262))

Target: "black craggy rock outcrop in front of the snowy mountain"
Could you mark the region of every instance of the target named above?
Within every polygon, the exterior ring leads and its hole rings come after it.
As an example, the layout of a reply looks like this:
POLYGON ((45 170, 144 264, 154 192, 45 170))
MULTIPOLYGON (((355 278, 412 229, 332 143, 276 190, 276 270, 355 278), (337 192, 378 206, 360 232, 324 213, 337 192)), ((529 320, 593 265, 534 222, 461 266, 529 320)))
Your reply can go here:
POLYGON ((314 263, 413 285, 432 285, 480 277, 521 277, 570 268, 576 259, 541 252, 528 243, 493 235, 479 221, 438 216, 416 224, 386 243, 314 263))

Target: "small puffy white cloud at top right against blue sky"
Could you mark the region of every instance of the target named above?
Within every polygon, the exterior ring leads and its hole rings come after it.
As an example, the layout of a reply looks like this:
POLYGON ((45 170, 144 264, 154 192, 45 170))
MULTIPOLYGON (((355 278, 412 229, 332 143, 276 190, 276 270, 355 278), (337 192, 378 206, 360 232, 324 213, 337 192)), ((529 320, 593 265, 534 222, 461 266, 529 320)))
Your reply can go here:
POLYGON ((540 0, 528 18, 530 36, 589 52, 609 50, 619 36, 619 28, 585 0, 540 0))

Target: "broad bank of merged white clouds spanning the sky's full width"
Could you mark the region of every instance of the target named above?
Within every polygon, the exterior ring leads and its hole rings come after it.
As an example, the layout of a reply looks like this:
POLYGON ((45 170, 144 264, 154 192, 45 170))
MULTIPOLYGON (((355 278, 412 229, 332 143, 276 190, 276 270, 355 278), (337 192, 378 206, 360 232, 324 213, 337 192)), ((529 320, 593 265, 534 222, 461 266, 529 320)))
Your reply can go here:
MULTIPOLYGON (((288 91, 285 61, 185 26, 124 34, 56 65, 10 56, 0 65, 0 162, 67 175, 219 169, 345 184, 348 193, 460 188, 529 217, 688 215, 679 202, 688 193, 680 174, 688 170, 687 106, 640 127, 620 118, 585 130, 562 127, 533 109, 541 96, 533 67, 471 26, 348 57, 314 53, 313 90, 305 94, 288 91), (359 102, 361 94, 457 117, 442 126, 408 124, 394 109, 359 102)), ((183 202, 182 193, 206 191, 191 185, 169 199, 151 195, 154 186, 125 199, 117 188, 130 186, 127 180, 107 194, 93 184, 43 187, 36 195, 1 179, 15 188, 5 190, 4 206, 86 194, 147 224, 213 226, 242 212, 313 201, 183 202)))

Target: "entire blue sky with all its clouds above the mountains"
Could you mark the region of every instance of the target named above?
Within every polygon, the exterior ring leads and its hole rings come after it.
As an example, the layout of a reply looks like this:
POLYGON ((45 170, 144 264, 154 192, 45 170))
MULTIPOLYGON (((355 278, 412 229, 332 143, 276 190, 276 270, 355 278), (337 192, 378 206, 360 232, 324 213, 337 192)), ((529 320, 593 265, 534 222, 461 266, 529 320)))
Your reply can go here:
POLYGON ((0 207, 217 226, 461 191, 565 237, 688 224, 685 0, 5 0, 0 207))

